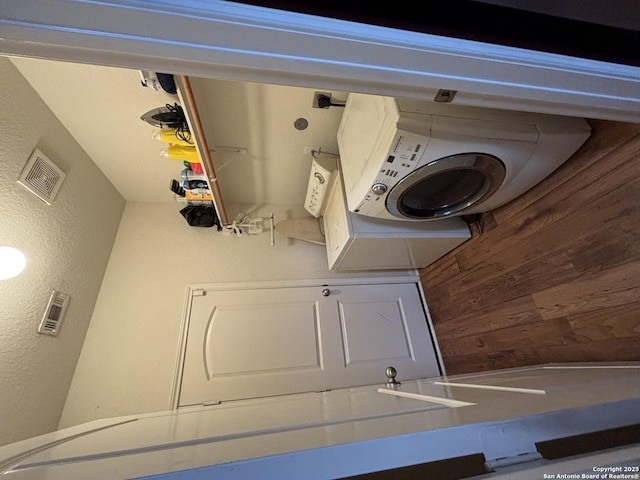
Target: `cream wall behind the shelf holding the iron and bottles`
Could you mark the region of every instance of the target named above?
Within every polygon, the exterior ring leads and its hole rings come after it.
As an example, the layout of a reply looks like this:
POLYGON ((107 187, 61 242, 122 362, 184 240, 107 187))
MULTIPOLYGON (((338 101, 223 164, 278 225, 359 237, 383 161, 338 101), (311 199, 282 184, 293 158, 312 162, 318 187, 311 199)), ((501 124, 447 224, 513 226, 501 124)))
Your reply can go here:
MULTIPOLYGON (((174 202, 171 179, 183 165, 161 156, 158 129, 140 116, 178 101, 145 88, 137 70, 12 58, 18 70, 89 157, 130 202, 174 202)), ((307 146, 337 152, 342 109, 312 108, 313 89, 191 79, 201 120, 228 203, 302 204, 311 165, 307 146), (309 127, 294 128, 297 118, 309 127), (246 153, 220 151, 222 147, 246 153)), ((346 94, 331 92, 334 98, 346 94)), ((46 153, 46 152, 45 152, 46 153)))

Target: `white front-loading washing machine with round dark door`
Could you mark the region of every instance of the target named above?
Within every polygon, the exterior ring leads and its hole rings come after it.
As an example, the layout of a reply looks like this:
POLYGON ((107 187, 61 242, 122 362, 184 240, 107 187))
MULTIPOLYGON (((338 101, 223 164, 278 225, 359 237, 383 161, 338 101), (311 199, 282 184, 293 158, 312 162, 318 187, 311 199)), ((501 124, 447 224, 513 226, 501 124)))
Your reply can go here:
POLYGON ((338 148, 350 211, 441 220, 493 210, 589 137, 581 118, 350 94, 338 148))

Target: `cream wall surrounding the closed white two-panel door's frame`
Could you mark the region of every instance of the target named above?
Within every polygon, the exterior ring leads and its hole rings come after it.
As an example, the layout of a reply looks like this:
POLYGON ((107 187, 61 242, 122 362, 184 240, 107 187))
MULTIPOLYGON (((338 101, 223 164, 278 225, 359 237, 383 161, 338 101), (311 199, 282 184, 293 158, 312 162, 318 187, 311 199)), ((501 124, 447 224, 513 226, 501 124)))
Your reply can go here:
MULTIPOLYGON (((127 203, 61 428, 170 408, 187 284, 346 276, 328 270, 323 246, 277 235, 271 247, 268 231, 238 238, 189 227, 179 208, 127 203)), ((272 209, 276 219, 304 214, 301 206, 272 209)))

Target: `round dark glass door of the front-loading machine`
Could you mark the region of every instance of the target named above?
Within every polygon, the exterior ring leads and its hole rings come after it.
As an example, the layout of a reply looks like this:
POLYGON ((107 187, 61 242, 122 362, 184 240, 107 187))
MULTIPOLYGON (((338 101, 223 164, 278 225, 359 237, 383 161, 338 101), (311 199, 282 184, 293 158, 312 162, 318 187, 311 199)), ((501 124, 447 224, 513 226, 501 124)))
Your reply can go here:
POLYGON ((387 196, 399 218, 428 220, 462 214, 500 188, 506 169, 486 153, 459 153, 434 160, 404 177, 387 196))

